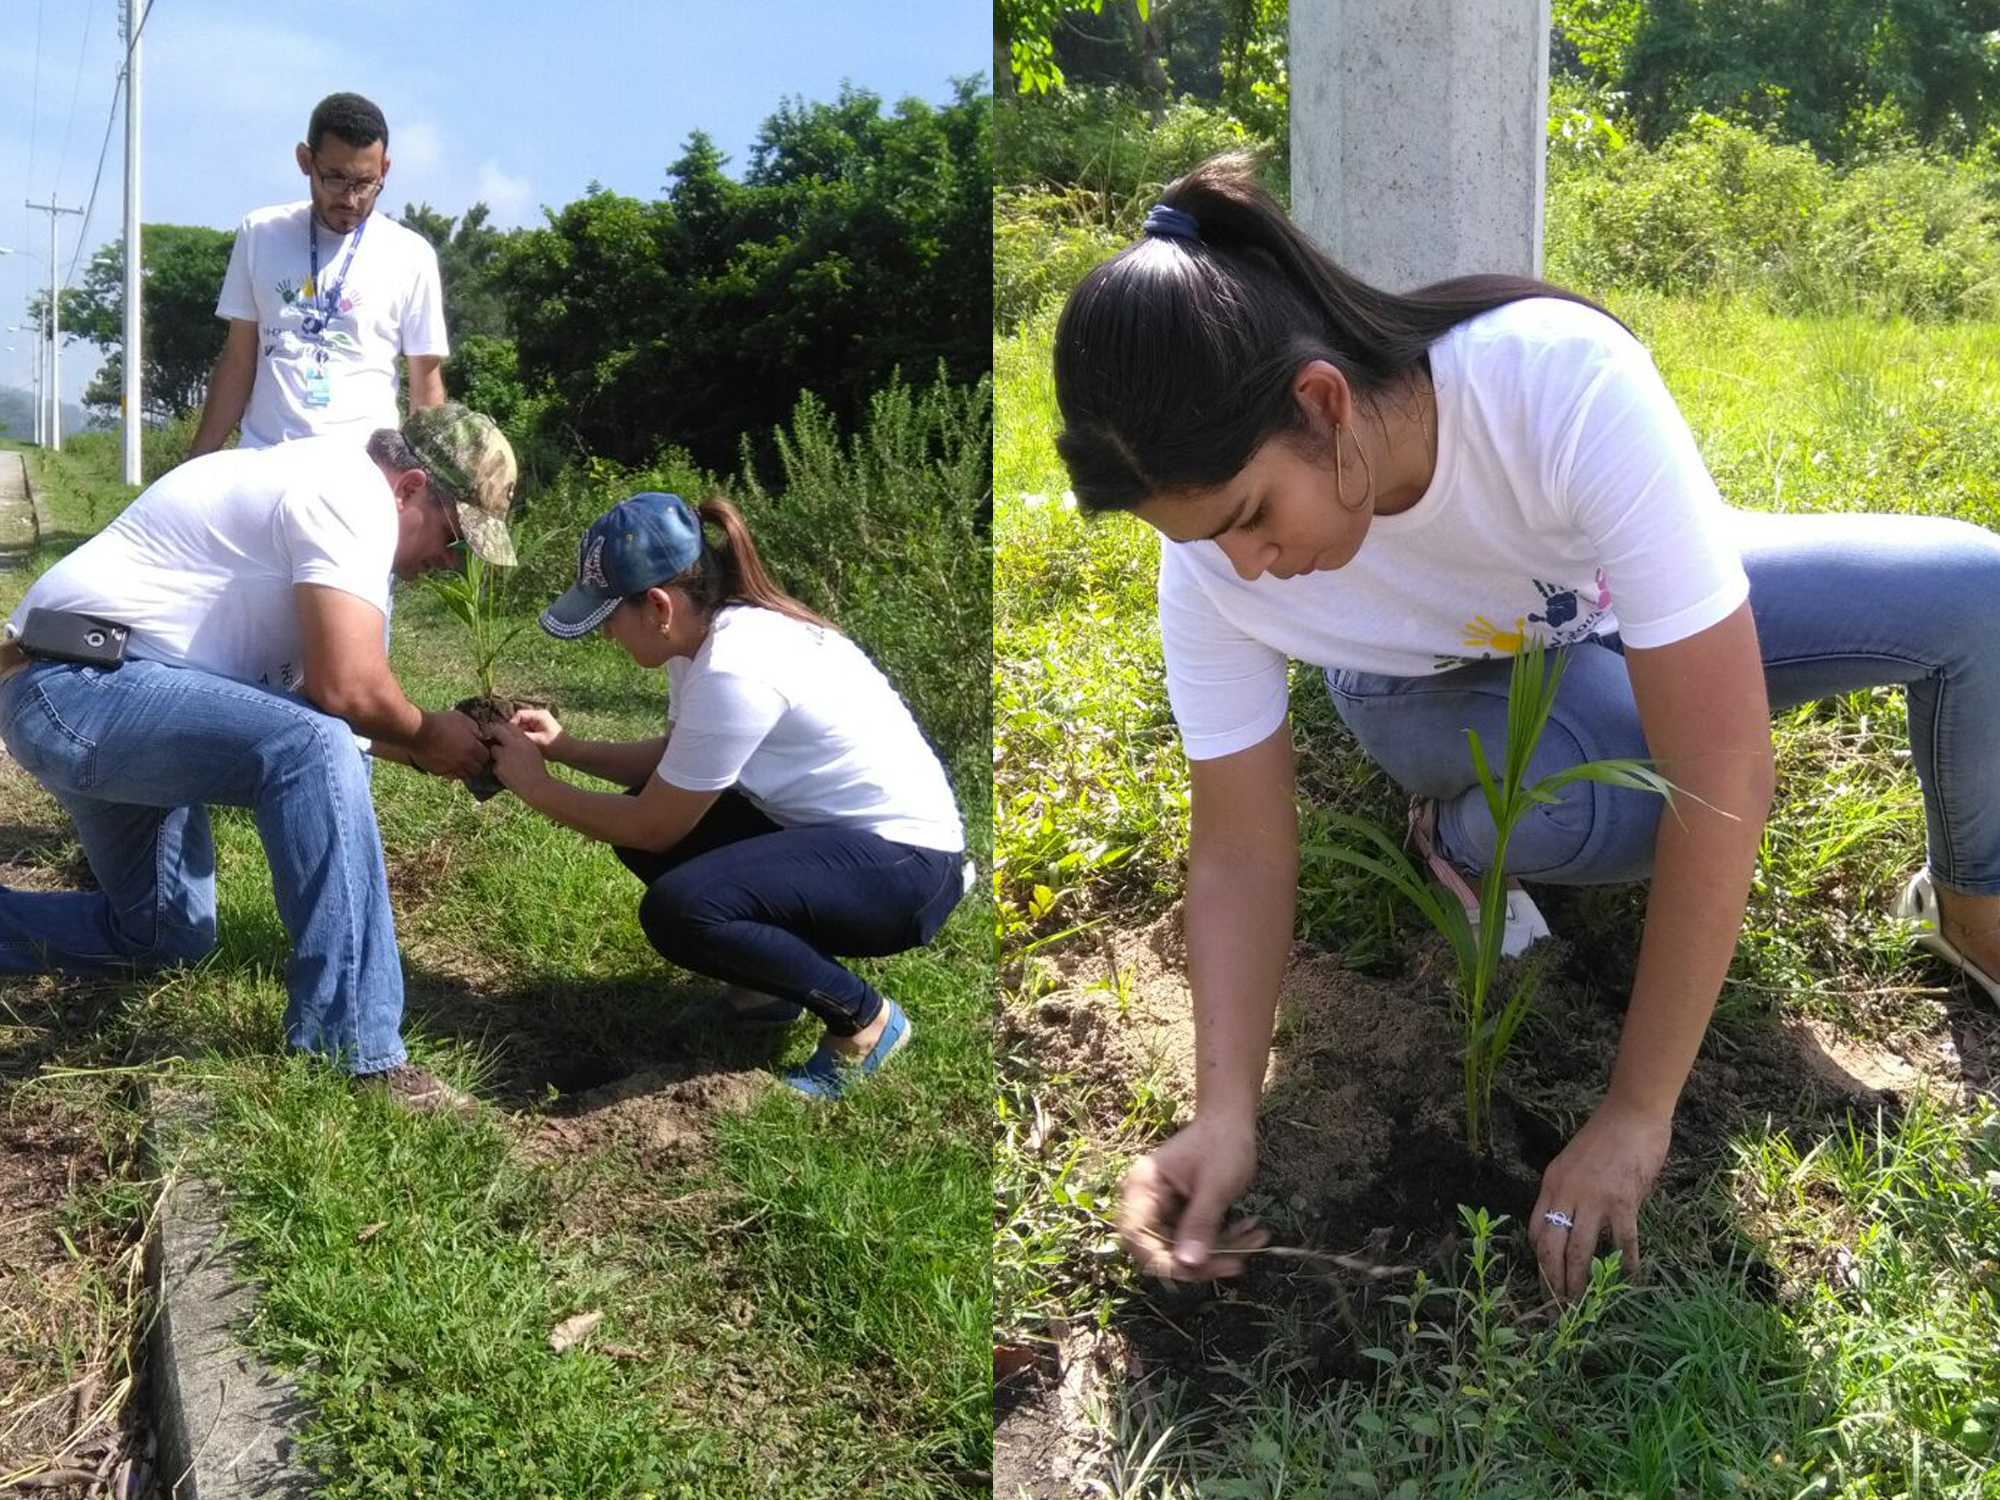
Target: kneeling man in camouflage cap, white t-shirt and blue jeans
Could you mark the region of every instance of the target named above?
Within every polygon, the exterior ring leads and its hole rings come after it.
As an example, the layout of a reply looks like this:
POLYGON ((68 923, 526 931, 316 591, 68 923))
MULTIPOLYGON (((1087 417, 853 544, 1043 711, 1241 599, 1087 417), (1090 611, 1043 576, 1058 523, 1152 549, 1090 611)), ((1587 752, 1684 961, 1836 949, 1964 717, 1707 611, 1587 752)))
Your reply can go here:
POLYGON ((490 756, 412 704, 384 652, 390 574, 512 562, 514 452, 458 404, 366 444, 300 438, 168 472, 42 574, 0 644, 0 738, 76 822, 92 892, 0 886, 0 974, 120 974, 216 942, 208 808, 256 814, 290 1046, 412 1108, 466 1096, 408 1064, 382 834, 356 734, 438 776, 490 756), (124 660, 114 662, 122 626, 124 660), (20 636, 16 640, 16 636, 20 636), (98 664, 60 660, 96 650, 98 664))

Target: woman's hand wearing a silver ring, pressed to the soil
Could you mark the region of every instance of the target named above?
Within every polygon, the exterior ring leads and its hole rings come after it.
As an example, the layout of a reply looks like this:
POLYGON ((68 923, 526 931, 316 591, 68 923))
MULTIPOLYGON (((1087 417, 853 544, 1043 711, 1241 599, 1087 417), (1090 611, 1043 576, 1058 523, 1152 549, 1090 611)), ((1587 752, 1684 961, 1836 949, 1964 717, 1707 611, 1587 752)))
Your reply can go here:
POLYGON ((1528 1240, 1542 1262, 1542 1280, 1558 1298, 1568 1302, 1590 1288, 1590 1260, 1606 1234, 1626 1274, 1638 1274, 1638 1206, 1652 1192, 1672 1138, 1672 1116, 1604 1100, 1548 1164, 1528 1240), (1552 1212, 1566 1214, 1574 1228, 1544 1218, 1552 1212))

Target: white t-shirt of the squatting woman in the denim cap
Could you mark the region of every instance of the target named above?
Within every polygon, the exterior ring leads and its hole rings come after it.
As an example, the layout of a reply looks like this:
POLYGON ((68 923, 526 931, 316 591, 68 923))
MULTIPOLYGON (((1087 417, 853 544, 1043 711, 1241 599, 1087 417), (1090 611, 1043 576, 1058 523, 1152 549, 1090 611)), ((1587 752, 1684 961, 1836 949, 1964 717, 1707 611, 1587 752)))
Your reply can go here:
POLYGON ((922 730, 838 630, 726 606, 692 658, 666 664, 666 680, 668 786, 734 786, 784 828, 838 824, 950 854, 966 846, 922 730))

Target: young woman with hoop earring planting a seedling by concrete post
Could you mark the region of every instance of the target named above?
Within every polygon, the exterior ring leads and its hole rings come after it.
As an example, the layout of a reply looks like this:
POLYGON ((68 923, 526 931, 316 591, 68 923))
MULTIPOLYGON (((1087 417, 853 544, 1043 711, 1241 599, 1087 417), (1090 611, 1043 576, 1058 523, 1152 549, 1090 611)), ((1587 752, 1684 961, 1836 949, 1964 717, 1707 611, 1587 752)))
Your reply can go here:
POLYGON ((1646 792, 1572 784, 1504 860, 1548 884, 1652 880, 1616 1064, 1532 1216, 1564 1296, 1602 1236, 1638 1264, 1638 1206, 1744 920, 1774 704, 1906 688, 1930 848, 1902 912, 2000 998, 1992 532, 1732 512, 1646 350, 1602 308, 1512 276, 1368 286, 1242 160, 1168 186, 1144 236, 1072 292, 1054 364, 1078 504, 1166 538, 1160 640, 1192 764, 1200 1082, 1194 1120, 1126 1178, 1142 1264, 1234 1274, 1258 1236, 1222 1220, 1256 1166, 1292 948, 1292 660, 1326 670, 1442 864, 1492 862, 1464 730, 1504 742, 1522 648, 1568 648, 1530 778, 1650 758, 1686 794, 1662 818, 1646 792))

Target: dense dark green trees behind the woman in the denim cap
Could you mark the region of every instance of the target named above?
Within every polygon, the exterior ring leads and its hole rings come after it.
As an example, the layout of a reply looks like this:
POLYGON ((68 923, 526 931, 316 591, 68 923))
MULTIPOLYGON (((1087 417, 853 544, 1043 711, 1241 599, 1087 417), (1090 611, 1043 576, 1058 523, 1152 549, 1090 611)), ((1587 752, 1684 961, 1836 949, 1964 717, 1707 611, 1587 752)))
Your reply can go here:
POLYGON ((678 444, 708 466, 800 392, 842 426, 894 370, 970 384, 992 362, 992 126, 844 88, 764 122, 740 182, 694 132, 652 202, 592 186, 512 238, 500 284, 528 390, 562 394, 590 452, 678 444))

